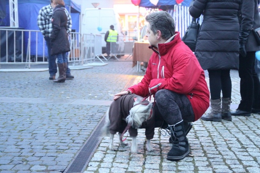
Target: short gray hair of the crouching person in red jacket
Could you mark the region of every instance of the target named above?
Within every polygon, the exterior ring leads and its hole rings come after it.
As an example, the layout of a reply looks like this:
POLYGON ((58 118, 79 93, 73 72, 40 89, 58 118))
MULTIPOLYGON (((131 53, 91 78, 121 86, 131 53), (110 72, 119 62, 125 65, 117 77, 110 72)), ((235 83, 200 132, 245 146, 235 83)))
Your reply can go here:
POLYGON ((146 21, 150 24, 153 34, 157 30, 161 31, 162 38, 168 40, 175 34, 175 24, 172 16, 166 11, 151 12, 146 16, 146 21))

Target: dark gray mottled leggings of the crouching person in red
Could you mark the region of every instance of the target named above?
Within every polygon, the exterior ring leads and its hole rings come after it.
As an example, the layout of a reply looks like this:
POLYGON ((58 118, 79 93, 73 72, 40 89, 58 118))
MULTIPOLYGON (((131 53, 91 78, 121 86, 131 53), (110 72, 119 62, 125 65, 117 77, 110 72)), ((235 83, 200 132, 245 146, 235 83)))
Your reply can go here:
POLYGON ((194 121, 194 113, 190 101, 184 94, 170 90, 159 90, 155 94, 154 114, 162 117, 168 125, 174 125, 181 120, 194 121))

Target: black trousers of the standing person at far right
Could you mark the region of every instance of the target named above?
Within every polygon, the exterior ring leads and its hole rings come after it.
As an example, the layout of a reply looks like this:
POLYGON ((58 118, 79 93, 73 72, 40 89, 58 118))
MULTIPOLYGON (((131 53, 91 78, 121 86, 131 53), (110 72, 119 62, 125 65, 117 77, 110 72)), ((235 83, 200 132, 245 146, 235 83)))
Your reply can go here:
POLYGON ((255 51, 247 52, 245 58, 239 56, 239 77, 241 101, 238 109, 251 112, 260 108, 260 82, 255 72, 255 51))

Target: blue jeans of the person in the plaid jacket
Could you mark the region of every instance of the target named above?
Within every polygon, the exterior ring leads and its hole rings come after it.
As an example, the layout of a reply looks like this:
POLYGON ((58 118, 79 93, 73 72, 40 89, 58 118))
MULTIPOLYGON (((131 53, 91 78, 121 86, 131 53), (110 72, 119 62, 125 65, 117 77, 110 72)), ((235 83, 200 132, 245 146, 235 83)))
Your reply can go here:
MULTIPOLYGON (((50 38, 44 37, 46 41, 46 46, 48 48, 48 62, 49 62, 49 73, 50 76, 56 75, 57 73, 57 65, 56 65, 56 55, 51 55, 51 44, 50 44, 50 38)), ((66 55, 66 62, 68 64, 68 59, 66 55)), ((66 75, 70 74, 70 68, 67 65, 66 75)))

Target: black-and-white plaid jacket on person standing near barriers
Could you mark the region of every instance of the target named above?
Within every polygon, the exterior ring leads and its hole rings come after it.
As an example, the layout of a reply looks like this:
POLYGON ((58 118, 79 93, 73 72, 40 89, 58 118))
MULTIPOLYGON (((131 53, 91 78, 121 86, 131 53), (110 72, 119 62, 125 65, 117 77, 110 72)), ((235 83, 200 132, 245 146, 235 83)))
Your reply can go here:
MULTIPOLYGON (((53 8, 51 5, 44 6, 40 9, 38 18, 37 18, 37 24, 39 26, 40 31, 42 32, 43 36, 49 36, 52 33, 52 12, 53 8)), ((67 9, 65 9, 65 13, 68 17, 67 22, 67 33, 70 33, 71 31, 71 17, 70 13, 67 9)))

